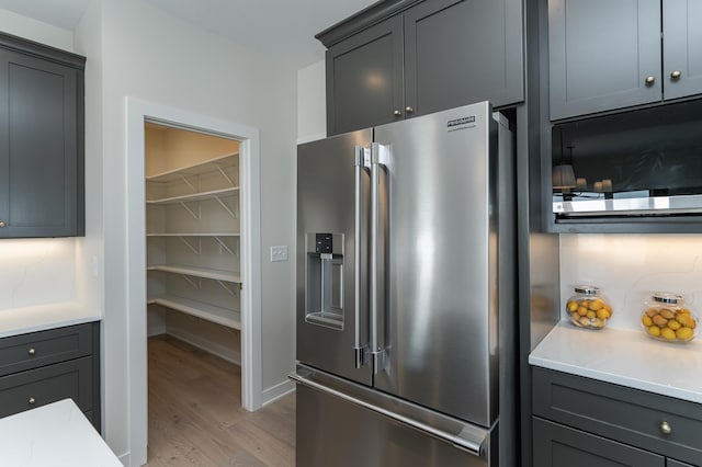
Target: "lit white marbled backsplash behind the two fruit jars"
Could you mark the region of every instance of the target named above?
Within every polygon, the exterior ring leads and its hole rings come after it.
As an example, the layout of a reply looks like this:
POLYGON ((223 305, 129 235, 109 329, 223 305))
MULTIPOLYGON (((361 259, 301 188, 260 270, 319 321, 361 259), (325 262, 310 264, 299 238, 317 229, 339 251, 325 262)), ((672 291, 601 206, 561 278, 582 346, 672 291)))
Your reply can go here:
POLYGON ((702 235, 562 235, 561 308, 579 284, 601 288, 612 305, 608 327, 638 330, 644 301, 675 292, 702 317, 702 235))

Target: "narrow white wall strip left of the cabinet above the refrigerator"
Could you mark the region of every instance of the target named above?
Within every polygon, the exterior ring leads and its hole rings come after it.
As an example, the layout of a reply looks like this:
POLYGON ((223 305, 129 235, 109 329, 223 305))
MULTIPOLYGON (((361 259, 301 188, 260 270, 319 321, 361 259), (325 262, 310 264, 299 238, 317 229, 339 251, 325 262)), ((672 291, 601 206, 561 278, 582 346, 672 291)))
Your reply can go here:
POLYGON ((325 60, 297 71, 297 143, 327 136, 325 60))

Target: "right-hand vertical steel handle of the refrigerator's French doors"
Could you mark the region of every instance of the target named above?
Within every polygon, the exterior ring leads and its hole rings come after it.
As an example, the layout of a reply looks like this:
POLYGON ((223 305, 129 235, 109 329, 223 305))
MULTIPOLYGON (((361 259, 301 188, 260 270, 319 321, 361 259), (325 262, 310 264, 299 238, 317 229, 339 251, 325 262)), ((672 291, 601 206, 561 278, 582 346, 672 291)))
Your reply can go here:
POLYGON ((378 143, 371 145, 371 358, 373 374, 384 366, 385 349, 380 341, 381 273, 380 273, 380 225, 381 225, 381 166, 388 160, 388 147, 378 143))

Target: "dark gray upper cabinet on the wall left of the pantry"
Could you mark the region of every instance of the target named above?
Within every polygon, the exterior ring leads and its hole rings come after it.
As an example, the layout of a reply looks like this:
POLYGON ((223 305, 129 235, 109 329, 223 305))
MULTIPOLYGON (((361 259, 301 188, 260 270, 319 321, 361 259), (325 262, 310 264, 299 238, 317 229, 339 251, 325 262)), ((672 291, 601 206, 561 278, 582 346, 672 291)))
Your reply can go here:
POLYGON ((84 235, 83 66, 0 35, 0 237, 84 235))

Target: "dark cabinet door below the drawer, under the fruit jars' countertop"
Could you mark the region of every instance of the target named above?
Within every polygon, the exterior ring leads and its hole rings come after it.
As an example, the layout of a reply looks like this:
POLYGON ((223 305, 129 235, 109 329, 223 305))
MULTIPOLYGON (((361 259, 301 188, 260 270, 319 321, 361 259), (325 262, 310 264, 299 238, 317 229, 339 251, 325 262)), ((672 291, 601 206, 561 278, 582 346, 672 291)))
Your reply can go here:
POLYGON ((665 467, 663 456, 533 418, 534 465, 539 467, 665 467))

